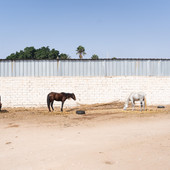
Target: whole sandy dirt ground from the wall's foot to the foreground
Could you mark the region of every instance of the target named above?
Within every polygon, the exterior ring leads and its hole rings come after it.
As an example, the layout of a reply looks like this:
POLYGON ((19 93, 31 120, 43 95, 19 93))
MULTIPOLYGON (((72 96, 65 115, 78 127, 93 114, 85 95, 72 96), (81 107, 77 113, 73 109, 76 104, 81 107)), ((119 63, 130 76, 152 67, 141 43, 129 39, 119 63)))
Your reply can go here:
POLYGON ((170 169, 170 106, 142 112, 122 108, 120 102, 64 108, 63 113, 2 108, 0 169, 170 169))

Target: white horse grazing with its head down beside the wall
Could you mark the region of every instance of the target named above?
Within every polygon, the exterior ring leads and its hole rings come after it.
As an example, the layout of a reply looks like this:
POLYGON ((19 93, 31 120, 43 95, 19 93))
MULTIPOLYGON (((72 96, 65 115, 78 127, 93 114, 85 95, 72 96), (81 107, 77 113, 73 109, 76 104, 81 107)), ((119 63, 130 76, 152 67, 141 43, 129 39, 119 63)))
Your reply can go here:
POLYGON ((124 105, 124 110, 127 109, 128 107, 128 104, 129 104, 129 101, 131 101, 132 103, 132 110, 134 110, 135 108, 135 101, 140 101, 140 105, 141 105, 141 108, 140 108, 140 111, 142 111, 142 107, 143 107, 143 110, 145 110, 145 107, 146 107, 146 94, 143 93, 143 92, 138 92, 138 93, 131 93, 129 95, 129 97, 127 98, 126 102, 125 102, 125 105, 124 105))

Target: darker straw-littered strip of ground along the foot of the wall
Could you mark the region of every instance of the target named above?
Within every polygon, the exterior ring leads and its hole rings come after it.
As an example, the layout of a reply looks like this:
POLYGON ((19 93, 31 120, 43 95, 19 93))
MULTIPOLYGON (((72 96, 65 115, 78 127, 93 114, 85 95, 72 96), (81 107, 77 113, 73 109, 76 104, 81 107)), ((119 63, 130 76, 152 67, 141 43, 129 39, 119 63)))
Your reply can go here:
POLYGON ((116 118, 135 118, 135 117, 151 117, 160 114, 170 113, 170 106, 164 109, 158 109, 157 106, 148 106, 147 111, 140 111, 140 107, 136 106, 135 111, 124 111, 124 103, 111 102, 92 105, 80 105, 72 108, 64 108, 64 112, 60 112, 60 108, 55 108, 55 111, 48 112, 44 108, 3 108, 0 112, 1 121, 31 121, 38 123, 57 123, 58 125, 74 125, 89 122, 89 120, 97 120, 98 122, 116 118), (84 110, 85 115, 77 115, 76 110, 84 110))

